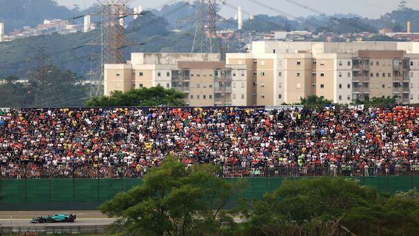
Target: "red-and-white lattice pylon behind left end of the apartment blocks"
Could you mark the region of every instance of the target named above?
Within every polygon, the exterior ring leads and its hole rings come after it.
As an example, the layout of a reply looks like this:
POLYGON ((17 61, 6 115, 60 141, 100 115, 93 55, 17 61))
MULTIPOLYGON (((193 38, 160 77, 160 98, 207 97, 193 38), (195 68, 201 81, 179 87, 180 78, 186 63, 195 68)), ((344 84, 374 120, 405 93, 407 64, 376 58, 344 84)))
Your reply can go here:
POLYGON ((88 75, 90 86, 95 91, 90 95, 101 95, 103 93, 105 64, 125 63, 125 28, 124 17, 126 17, 126 3, 128 0, 97 0, 100 4, 99 16, 101 19, 101 33, 98 38, 89 42, 88 45, 100 45, 101 54, 99 63, 91 68, 88 75))

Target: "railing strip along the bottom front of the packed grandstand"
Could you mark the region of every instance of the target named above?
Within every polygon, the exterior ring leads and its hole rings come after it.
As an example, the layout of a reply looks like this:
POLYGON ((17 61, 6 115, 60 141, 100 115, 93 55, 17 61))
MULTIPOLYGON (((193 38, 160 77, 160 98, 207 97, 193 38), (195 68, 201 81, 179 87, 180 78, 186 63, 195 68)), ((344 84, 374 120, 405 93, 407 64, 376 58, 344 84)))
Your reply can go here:
MULTIPOLYGON (((151 168, 158 167, 133 167, 127 165, 88 167, 72 165, 58 165, 49 167, 28 166, 26 168, 10 168, 0 165, 1 179, 48 179, 48 178, 144 178, 151 168)), ((419 176, 419 165, 416 166, 394 166, 391 168, 377 168, 369 166, 222 166, 222 171, 215 173, 221 178, 257 178, 257 177, 372 177, 383 175, 414 175, 419 176)))

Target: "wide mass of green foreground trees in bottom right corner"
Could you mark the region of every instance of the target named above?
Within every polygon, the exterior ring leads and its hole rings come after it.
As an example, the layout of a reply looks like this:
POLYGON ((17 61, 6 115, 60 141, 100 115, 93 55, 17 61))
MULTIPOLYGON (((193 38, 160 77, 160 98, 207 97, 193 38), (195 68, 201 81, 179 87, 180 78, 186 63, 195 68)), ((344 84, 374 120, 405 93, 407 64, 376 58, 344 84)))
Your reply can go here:
POLYGON ((284 180, 263 200, 244 199, 246 235, 339 235, 341 226, 356 235, 415 235, 419 230, 416 189, 395 196, 345 178, 284 180))

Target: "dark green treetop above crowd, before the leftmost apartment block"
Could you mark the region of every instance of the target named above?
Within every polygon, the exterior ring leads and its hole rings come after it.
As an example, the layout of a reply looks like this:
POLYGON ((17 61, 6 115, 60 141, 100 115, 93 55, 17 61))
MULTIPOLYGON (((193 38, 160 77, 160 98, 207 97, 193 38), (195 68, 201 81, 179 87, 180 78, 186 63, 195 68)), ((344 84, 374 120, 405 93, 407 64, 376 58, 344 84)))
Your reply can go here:
POLYGON ((88 107, 182 107, 185 95, 162 86, 131 89, 126 93, 114 91, 110 96, 93 97, 86 102, 88 107))

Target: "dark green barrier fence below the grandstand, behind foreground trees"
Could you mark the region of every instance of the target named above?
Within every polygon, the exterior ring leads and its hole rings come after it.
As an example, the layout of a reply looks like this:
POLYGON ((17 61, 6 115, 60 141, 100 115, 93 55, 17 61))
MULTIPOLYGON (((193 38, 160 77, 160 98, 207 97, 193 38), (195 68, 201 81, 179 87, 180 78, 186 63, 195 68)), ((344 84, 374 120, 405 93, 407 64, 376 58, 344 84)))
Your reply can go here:
MULTIPOLYGON (((245 178, 247 188, 240 194, 247 198, 261 199, 266 191, 274 191, 285 178, 245 178)), ((299 178, 290 178, 298 180, 299 178)), ((408 191, 419 189, 419 176, 358 177, 360 184, 376 187, 378 191, 408 191)), ((227 179, 229 182, 237 178, 227 179)), ((0 203, 100 203, 113 198, 121 191, 128 191, 142 179, 2 179, 0 203)), ((68 205, 68 204, 67 204, 68 205)), ((1 207, 0 207, 1 208, 1 207)))

